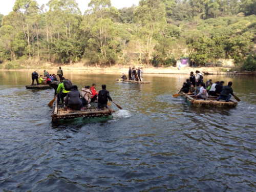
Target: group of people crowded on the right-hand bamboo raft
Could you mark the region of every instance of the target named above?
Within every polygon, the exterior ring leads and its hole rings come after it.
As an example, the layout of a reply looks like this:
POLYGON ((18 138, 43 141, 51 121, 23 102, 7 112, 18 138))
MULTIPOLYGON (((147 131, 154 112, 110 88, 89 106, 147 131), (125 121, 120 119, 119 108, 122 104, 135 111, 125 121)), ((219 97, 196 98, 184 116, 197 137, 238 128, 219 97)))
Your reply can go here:
POLYGON ((189 79, 186 79, 186 82, 183 83, 183 87, 180 91, 186 94, 194 94, 196 99, 206 100, 209 95, 217 96, 219 101, 220 99, 228 102, 233 94, 232 82, 229 81, 227 86, 224 86, 224 81, 216 81, 212 83, 212 80, 209 79, 206 83, 203 82, 203 74, 200 71, 190 72, 189 79))

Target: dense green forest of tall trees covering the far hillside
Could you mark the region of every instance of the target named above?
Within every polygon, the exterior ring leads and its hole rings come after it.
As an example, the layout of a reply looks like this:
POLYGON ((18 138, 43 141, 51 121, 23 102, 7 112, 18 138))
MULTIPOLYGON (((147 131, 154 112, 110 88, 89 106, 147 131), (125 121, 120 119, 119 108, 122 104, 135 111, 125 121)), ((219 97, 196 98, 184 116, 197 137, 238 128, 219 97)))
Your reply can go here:
MULTIPOLYGON (((0 14, 0 63, 17 61, 153 64, 189 57, 199 65, 234 59, 256 70, 255 0, 141 0, 116 9, 91 0, 83 14, 75 0, 16 0, 0 14)), ((1 65, 0 65, 1 66, 1 65)))

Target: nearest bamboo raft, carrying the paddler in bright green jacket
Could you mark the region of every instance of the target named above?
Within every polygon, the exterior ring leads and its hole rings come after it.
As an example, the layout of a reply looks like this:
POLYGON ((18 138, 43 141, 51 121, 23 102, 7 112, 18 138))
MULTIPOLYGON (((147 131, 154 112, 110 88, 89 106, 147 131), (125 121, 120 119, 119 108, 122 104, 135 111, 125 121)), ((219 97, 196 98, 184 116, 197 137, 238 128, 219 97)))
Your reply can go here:
POLYGON ((109 109, 98 109, 97 107, 84 107, 84 110, 70 110, 67 111, 65 107, 57 103, 55 100, 55 106, 52 117, 52 123, 55 120, 61 119, 73 119, 73 118, 94 118, 102 116, 110 116, 111 111, 109 109))

